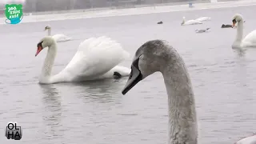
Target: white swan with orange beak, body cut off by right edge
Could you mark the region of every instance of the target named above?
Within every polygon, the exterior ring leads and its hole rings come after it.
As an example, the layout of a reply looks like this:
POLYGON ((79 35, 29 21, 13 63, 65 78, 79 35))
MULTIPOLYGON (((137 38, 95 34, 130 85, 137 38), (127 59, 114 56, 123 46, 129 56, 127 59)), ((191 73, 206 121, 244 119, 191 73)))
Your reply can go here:
POLYGON ((243 20, 242 14, 234 14, 234 18, 232 20, 234 27, 236 23, 237 26, 237 36, 232 45, 233 48, 241 48, 241 47, 255 47, 256 46, 256 30, 251 31, 250 34, 247 34, 245 38, 242 39, 243 35, 243 20))

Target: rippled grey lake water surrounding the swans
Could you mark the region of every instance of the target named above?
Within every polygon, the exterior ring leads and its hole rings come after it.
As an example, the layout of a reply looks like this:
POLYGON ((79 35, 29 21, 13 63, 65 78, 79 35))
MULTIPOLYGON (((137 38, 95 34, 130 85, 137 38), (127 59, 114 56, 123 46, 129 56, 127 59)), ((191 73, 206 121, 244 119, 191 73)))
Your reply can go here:
MULTIPOLYGON (((26 144, 164 144, 167 142, 167 97, 161 74, 139 82, 123 96, 126 78, 84 83, 39 85, 46 50, 34 57, 37 42, 50 24, 52 34, 74 41, 58 43, 54 74, 62 70, 85 38, 106 35, 134 55, 144 42, 165 39, 182 55, 192 78, 198 111, 199 142, 233 143, 256 132, 256 50, 231 49, 236 30, 221 29, 235 13, 254 30, 256 6, 194 10, 112 18, 1 25, 0 143, 7 122, 18 122, 26 144), (209 16, 211 22, 180 26, 187 19, 209 16), (162 21, 162 25, 156 23, 162 21), (198 28, 210 27, 207 34, 198 28)), ((126 60, 122 66, 130 66, 126 60)))

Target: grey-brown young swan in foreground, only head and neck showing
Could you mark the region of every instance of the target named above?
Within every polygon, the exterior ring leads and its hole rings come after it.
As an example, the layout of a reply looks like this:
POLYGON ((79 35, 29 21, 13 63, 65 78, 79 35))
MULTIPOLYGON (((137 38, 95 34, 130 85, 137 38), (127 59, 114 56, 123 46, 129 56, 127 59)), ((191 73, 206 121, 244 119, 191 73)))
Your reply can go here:
POLYGON ((168 144, 197 144, 198 122, 190 75, 182 57, 168 42, 153 40, 138 48, 122 94, 155 72, 162 73, 168 95, 168 144))

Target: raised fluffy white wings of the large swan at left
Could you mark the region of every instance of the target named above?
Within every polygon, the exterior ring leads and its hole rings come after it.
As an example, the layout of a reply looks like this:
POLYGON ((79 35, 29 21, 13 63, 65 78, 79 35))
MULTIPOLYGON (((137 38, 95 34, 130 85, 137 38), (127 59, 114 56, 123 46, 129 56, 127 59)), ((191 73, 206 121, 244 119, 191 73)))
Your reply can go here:
POLYGON ((89 38, 78 46, 77 53, 60 74, 71 80, 91 79, 105 74, 129 57, 130 54, 110 38, 89 38))

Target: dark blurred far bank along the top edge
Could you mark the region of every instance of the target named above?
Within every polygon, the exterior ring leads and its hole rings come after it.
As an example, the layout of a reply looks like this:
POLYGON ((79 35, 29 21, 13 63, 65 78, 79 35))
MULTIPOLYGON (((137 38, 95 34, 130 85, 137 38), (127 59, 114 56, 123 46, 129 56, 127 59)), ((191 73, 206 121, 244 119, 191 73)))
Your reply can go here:
MULTIPOLYGON (((227 0, 218 0, 218 2, 221 1, 227 0)), ((210 0, 0 0, 0 14, 4 15, 6 3, 22 3, 24 13, 46 11, 66 13, 66 10, 106 10, 152 5, 176 5, 188 2, 210 2, 210 0)))

